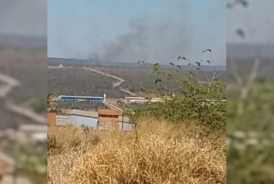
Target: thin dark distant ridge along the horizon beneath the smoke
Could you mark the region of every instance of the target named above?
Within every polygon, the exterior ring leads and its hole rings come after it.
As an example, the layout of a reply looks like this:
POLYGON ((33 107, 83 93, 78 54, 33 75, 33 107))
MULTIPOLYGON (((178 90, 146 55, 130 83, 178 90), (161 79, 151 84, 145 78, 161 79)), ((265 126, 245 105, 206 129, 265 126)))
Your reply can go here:
MULTIPOLYGON (((81 60, 81 59, 68 59, 68 58, 48 58, 48 64, 57 65, 63 63, 63 65, 94 65, 104 67, 126 67, 126 68, 151 68, 152 64, 137 64, 137 63, 124 63, 124 62, 98 62, 93 60, 81 60)), ((175 69, 175 66, 161 65, 165 69, 175 69)), ((192 71, 196 70, 196 66, 182 66, 183 70, 192 71)), ((226 66, 202 66, 201 70, 204 71, 226 71, 226 66)))

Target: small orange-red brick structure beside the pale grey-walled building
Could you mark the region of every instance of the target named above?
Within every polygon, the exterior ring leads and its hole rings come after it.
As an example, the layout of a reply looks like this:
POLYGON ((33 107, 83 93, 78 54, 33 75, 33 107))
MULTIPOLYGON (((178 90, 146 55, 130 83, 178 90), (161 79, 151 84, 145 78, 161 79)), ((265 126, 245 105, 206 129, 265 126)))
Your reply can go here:
POLYGON ((98 109, 98 129, 119 129, 119 111, 112 109, 98 109))

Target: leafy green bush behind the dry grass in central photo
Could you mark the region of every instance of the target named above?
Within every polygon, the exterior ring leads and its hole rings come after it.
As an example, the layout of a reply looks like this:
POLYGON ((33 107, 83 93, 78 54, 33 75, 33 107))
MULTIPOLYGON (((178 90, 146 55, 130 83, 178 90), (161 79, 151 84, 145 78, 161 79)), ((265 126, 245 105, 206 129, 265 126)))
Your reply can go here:
MULTIPOLYGON (((201 63, 197 63, 197 70, 200 70, 201 63)), ((180 71, 177 70, 179 73, 180 71)), ((163 80, 173 81, 178 85, 177 94, 158 88, 161 96, 169 96, 170 100, 164 103, 148 103, 144 108, 135 108, 134 105, 124 105, 125 112, 132 121, 139 118, 161 119, 173 123, 183 121, 200 122, 201 125, 209 129, 225 131, 226 128, 226 103, 225 99, 226 83, 216 78, 216 72, 212 76, 205 73, 206 83, 201 84, 200 76, 195 72, 188 72, 186 78, 176 78, 173 73, 162 70, 158 63, 153 67, 156 74, 155 83, 162 83, 163 80), (212 100, 215 104, 210 103, 212 100), (203 104, 204 103, 204 104, 203 104)), ((144 90, 151 88, 144 88, 144 90)))

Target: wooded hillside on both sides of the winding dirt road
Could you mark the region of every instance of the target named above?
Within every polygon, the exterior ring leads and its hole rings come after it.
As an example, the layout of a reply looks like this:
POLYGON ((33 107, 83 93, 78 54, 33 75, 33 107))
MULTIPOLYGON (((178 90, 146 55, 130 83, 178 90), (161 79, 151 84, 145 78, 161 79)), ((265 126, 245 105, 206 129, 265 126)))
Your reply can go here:
MULTIPOLYGON (((88 68, 100 71, 106 74, 120 77, 125 80, 120 86, 113 86, 117 82, 109 76, 84 70, 78 65, 68 65, 67 69, 48 69, 48 93, 54 95, 91 95, 102 96, 106 93, 108 97, 122 98, 129 96, 120 89, 129 89, 131 92, 139 92, 142 86, 157 89, 162 87, 165 89, 176 89, 176 82, 165 81, 155 85, 155 80, 158 76, 153 74, 152 68, 132 68, 132 67, 102 67, 88 66, 88 68), (68 68, 74 67, 74 68, 68 68)), ((177 79, 186 77, 186 71, 176 72, 176 70, 166 69, 172 73, 177 79)), ((201 81, 204 81, 204 71, 198 73, 201 81)), ((212 76, 213 72, 207 72, 208 76, 212 76)), ((225 79, 225 72, 217 72, 216 76, 220 79, 225 79)), ((176 91, 176 90, 175 90, 176 91)))

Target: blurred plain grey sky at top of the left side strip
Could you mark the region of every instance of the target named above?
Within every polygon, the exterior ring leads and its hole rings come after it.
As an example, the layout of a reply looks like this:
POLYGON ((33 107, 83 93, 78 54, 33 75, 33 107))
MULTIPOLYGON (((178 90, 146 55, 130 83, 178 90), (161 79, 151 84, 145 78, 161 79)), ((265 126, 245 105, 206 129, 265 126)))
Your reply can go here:
POLYGON ((1 0, 0 35, 47 36, 47 0, 1 0))

